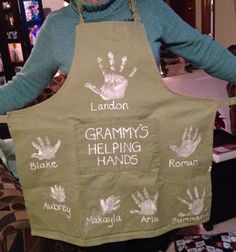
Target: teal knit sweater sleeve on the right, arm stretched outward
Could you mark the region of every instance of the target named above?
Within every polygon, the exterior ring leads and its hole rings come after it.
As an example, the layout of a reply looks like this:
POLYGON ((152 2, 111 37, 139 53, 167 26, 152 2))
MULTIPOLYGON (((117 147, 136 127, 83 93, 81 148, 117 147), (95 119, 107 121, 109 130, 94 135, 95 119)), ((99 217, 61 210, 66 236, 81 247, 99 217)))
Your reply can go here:
POLYGON ((162 41, 170 51, 207 73, 236 83, 236 57, 226 48, 185 23, 162 0, 155 8, 155 22, 162 27, 162 41))

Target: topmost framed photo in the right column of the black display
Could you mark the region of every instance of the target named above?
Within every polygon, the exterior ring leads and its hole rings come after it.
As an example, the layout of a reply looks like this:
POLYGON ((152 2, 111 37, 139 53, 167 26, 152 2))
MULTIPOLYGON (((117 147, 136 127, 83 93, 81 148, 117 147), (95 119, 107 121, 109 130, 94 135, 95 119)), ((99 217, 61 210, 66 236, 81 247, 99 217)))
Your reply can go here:
POLYGON ((37 0, 23 1, 25 18, 27 22, 35 21, 40 19, 40 9, 37 0))

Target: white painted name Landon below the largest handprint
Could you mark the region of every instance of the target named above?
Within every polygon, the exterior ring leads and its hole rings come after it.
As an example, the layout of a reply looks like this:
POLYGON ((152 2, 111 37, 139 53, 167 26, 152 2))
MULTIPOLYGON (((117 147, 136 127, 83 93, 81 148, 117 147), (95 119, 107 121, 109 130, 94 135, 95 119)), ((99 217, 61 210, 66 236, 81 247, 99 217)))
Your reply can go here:
POLYGON ((119 103, 115 102, 114 100, 110 103, 100 103, 100 104, 94 104, 93 102, 90 103, 90 109, 92 112, 97 111, 106 111, 106 110, 129 110, 129 104, 127 102, 125 103, 119 103))

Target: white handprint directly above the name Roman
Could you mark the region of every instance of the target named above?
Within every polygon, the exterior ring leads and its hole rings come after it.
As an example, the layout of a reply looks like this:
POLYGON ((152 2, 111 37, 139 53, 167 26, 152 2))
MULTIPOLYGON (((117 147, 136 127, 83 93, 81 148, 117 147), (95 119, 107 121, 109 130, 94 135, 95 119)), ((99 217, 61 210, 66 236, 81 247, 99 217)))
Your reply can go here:
POLYGON ((173 150, 178 157, 189 157, 194 153, 200 143, 201 135, 198 135, 198 128, 195 130, 193 136, 191 136, 192 130, 192 126, 189 129, 185 128, 180 146, 170 145, 170 149, 173 150))

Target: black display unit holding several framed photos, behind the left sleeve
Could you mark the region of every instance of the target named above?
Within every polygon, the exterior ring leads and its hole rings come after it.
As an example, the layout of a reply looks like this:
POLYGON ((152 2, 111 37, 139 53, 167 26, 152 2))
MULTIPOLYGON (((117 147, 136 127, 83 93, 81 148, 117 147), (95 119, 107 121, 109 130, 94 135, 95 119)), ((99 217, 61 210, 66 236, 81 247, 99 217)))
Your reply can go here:
POLYGON ((21 71, 43 22, 42 0, 0 0, 1 83, 21 71))

